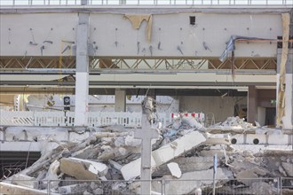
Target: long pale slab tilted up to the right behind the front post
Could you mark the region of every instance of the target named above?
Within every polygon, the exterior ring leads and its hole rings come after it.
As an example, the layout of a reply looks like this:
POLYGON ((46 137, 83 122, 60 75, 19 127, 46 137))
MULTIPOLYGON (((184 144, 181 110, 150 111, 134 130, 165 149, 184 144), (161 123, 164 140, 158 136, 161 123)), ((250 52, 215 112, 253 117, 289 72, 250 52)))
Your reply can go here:
MULTIPOLYGON (((162 165, 184 152, 188 152, 194 147, 205 141, 205 137, 198 131, 192 131, 185 136, 181 136, 169 144, 163 145, 161 148, 152 152, 151 161, 152 168, 162 165)), ((125 180, 133 179, 140 175, 141 159, 131 161, 121 168, 121 173, 125 180)))

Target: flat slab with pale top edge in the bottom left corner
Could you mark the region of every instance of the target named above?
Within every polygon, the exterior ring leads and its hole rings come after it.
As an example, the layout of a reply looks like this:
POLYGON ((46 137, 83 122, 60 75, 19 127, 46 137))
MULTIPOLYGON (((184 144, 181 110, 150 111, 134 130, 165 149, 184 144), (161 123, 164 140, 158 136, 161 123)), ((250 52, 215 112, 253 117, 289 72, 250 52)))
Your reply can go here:
MULTIPOLYGON (((36 189, 31 189, 28 187, 15 185, 11 183, 0 183, 0 192, 1 194, 29 194, 29 195, 46 195, 47 191, 39 191, 36 189)), ((56 195, 55 193, 51 193, 52 195, 56 195)))

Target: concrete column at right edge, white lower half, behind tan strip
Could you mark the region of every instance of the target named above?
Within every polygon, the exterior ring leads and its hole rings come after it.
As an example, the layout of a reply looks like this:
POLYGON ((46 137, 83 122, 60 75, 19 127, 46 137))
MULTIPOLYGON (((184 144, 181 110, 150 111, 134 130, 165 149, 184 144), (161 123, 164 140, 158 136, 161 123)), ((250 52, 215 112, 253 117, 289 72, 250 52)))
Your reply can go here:
MULTIPOLYGON (((278 66, 277 66, 277 87, 279 86, 280 80, 280 63, 281 63, 281 49, 278 49, 277 56, 278 66)), ((284 116, 281 118, 282 129, 293 129, 293 49, 288 52, 288 59, 286 63, 286 86, 285 86, 285 110, 284 116)), ((277 91, 277 102, 278 91, 277 91)), ((277 110, 278 110, 277 104, 277 110)))

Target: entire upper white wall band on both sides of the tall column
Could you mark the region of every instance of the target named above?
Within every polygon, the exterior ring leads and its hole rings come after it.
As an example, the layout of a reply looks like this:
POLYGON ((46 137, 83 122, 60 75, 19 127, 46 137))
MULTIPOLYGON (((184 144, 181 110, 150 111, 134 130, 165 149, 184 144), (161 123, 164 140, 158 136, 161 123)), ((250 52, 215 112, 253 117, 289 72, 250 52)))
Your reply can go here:
MULTIPOLYGON (((154 14, 152 40, 147 43, 147 22, 144 21, 139 29, 133 29, 131 21, 123 16, 114 13, 91 13, 90 43, 95 42, 95 46, 98 46, 95 55, 151 57, 149 47, 152 46, 153 57, 219 57, 231 35, 275 39, 282 34, 279 14, 154 14), (189 24, 189 16, 195 16, 194 26, 189 24), (207 43, 210 51, 203 48, 203 42, 207 43), (159 43, 162 50, 158 49, 159 43)), ((44 56, 60 56, 67 45, 74 48, 74 45, 61 40, 75 41, 77 20, 75 12, 1 14, 0 55, 40 56, 40 48, 44 45, 44 56), (36 46, 29 44, 33 41, 32 36, 36 46), (44 40, 53 43, 43 43, 44 40)), ((235 56, 274 57, 275 50, 276 43, 236 43, 235 56)), ((62 55, 71 54, 68 50, 62 55)))

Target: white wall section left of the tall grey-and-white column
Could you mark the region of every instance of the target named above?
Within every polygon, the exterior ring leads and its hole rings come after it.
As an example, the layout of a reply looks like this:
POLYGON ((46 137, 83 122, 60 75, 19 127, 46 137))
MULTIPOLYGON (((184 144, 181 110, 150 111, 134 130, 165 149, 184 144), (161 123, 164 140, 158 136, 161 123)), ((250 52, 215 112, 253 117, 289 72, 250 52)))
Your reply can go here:
MULTIPOLYGON (((60 56, 67 46, 62 40, 75 42, 78 16, 76 13, 1 14, 0 24, 1 56, 41 56, 43 45, 44 56, 60 56), (33 39, 37 45, 29 44, 33 39), (43 43, 45 40, 53 43, 43 43)), ((69 56, 70 52, 62 55, 69 56)))

